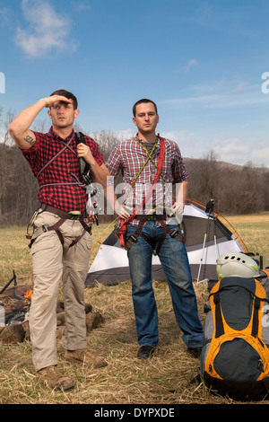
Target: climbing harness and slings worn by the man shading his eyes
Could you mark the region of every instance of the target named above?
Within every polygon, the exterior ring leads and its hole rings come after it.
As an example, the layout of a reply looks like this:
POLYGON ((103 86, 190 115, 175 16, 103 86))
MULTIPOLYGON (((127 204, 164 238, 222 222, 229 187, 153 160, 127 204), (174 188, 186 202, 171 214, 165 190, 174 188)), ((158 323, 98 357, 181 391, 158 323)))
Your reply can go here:
MULTIPOLYGON (((49 134, 50 135, 50 134, 49 134)), ((51 135, 50 135, 51 136, 51 135)), ((39 177, 39 174, 44 171, 46 169, 46 167, 48 167, 49 164, 51 164, 52 162, 54 162, 54 160, 56 160, 56 158, 62 154, 65 149, 69 149, 74 155, 77 155, 74 151, 74 149, 70 146, 70 143, 73 141, 75 136, 75 142, 76 145, 83 143, 85 144, 85 138, 84 135, 79 132, 79 134, 74 133, 74 135, 71 137, 71 139, 65 144, 64 141, 61 141, 62 144, 64 145, 64 147, 56 154, 54 155, 49 161, 48 163, 46 163, 42 169, 39 171, 37 177, 39 177)), ((86 189, 87 185, 92 183, 91 180, 91 167, 88 163, 86 163, 83 158, 79 158, 79 167, 80 167, 80 174, 82 176, 82 180, 83 182, 81 182, 77 176, 74 173, 70 173, 71 176, 74 178, 74 182, 67 182, 67 183, 48 183, 45 185, 41 185, 39 187, 39 189, 43 188, 43 187, 47 187, 47 186, 56 186, 56 185, 77 185, 80 186, 82 189, 86 189)), ((32 216, 31 220, 30 220, 30 224, 27 227, 27 233, 26 233, 26 238, 30 239, 30 244, 29 247, 31 247, 32 243, 35 241, 35 239, 37 239, 37 237, 42 234, 42 233, 46 233, 46 232, 50 232, 50 231, 55 231, 60 242, 62 243, 62 245, 64 245, 64 237, 63 234, 61 233, 61 231, 59 230, 60 226, 65 223, 65 220, 79 220, 80 223, 82 224, 83 227, 83 232, 80 236, 78 236, 76 239, 74 239, 73 242, 71 242, 71 244, 69 245, 69 248, 71 248, 72 246, 74 246, 74 244, 76 244, 77 242, 79 242, 82 239, 82 236, 88 232, 91 234, 91 226, 89 226, 88 224, 85 223, 85 218, 86 218, 86 212, 80 212, 80 211, 70 211, 69 213, 56 208, 56 207, 52 207, 49 206, 47 204, 41 204, 39 207, 39 210, 37 210, 34 215, 32 216), (39 211, 41 209, 41 211, 39 211), (34 221, 36 219, 36 217, 41 214, 44 211, 48 211, 52 214, 56 214, 60 217, 60 219, 56 222, 56 224, 53 224, 51 226, 49 226, 48 224, 43 224, 41 225, 38 229, 34 230, 34 232, 32 233, 32 235, 30 235, 28 233, 28 229, 29 226, 34 224, 34 221)))

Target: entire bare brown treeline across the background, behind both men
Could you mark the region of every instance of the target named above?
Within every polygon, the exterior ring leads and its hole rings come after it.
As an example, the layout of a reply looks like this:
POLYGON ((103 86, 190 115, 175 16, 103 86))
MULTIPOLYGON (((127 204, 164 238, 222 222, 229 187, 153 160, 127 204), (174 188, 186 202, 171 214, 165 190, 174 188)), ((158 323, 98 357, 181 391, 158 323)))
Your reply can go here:
MULTIPOLYGON (((109 131, 92 137, 99 143, 105 159, 120 141, 109 131)), ((224 215, 269 210, 267 169, 258 169, 251 163, 242 167, 221 163, 213 151, 203 159, 185 159, 185 163, 189 173, 189 198, 204 204, 213 198, 215 211, 224 215)), ((37 180, 6 130, 0 143, 0 225, 28 224, 39 207, 37 194, 37 180)), ((111 215, 100 215, 100 221, 108 221, 108 218, 111 219, 111 215)))

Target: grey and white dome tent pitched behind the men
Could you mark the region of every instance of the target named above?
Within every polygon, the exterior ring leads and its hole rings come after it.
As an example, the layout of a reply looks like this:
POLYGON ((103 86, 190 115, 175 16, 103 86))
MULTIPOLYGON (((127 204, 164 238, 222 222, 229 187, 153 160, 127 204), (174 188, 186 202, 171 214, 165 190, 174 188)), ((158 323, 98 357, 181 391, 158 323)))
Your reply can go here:
MULTIPOLYGON (((209 202, 210 203, 210 202, 209 202)), ((208 203, 208 204, 209 204, 208 203)), ((244 252, 247 247, 239 234, 222 215, 188 199, 184 209, 183 226, 186 237, 187 255, 192 277, 197 282, 217 280, 216 259, 225 252, 244 252)), ((97 283, 113 286, 129 280, 127 252, 120 246, 117 230, 114 229, 101 243, 85 280, 85 286, 97 283)), ((152 279, 166 279, 158 256, 152 255, 152 279)))

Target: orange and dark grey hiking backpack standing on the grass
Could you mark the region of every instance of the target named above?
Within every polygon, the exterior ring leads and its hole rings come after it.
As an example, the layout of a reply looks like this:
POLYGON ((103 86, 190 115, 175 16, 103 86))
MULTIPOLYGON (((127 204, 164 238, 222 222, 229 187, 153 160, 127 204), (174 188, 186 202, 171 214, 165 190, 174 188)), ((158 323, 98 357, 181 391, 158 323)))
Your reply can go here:
POLYGON ((256 278, 225 277, 210 293, 200 371, 212 391, 239 400, 269 394, 269 312, 256 278))

